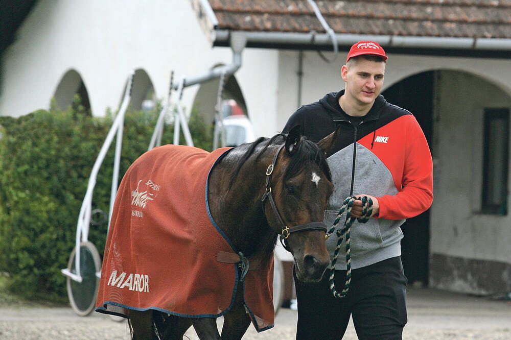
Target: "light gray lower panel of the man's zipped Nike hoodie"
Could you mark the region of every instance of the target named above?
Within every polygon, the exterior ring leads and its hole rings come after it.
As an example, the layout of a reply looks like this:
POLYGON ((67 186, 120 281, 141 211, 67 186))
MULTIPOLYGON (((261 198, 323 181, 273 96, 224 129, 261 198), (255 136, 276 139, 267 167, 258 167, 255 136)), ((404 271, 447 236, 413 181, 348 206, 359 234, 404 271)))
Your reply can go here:
MULTIPOLYGON (((337 217, 342 202, 350 196, 353 144, 330 156, 328 162, 335 187, 325 214, 325 223, 330 227, 337 217)), ((373 152, 359 143, 357 143, 353 193, 355 195, 367 193, 375 197, 398 193, 389 169, 373 152), (375 174, 377 174, 377 178, 375 178, 375 174)), ((342 228, 344 221, 345 213, 343 213, 337 229, 342 228)), ((401 255, 400 240, 403 238, 403 233, 399 226, 404 222, 405 220, 385 220, 373 217, 364 224, 355 221, 350 231, 352 269, 401 255)), ((327 240, 327 249, 331 256, 334 254, 337 240, 335 232, 327 240)), ((346 269, 344 241, 339 251, 336 269, 346 269)))

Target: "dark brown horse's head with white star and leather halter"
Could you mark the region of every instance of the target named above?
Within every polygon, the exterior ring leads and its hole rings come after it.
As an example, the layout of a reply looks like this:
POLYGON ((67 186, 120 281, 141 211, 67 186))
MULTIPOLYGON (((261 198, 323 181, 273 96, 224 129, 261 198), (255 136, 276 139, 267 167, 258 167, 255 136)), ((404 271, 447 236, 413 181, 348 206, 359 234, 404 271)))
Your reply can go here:
POLYGON ((262 200, 270 227, 294 257, 297 278, 317 282, 330 264, 323 218, 334 187, 326 153, 338 129, 318 144, 299 130, 290 130, 268 166, 262 200))

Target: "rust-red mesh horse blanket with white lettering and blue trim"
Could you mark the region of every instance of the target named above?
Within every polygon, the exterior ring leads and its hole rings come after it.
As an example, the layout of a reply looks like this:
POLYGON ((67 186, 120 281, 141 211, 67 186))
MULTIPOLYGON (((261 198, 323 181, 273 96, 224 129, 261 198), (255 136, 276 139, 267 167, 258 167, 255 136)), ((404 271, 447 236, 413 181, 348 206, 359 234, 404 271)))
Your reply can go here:
MULTIPOLYGON (((113 207, 97 311, 129 317, 130 309, 156 309, 215 318, 231 308, 239 255, 207 203, 208 174, 226 150, 164 145, 130 166, 113 207)), ((248 260, 245 305, 263 331, 273 327, 273 262, 254 270, 257 259, 248 260)))

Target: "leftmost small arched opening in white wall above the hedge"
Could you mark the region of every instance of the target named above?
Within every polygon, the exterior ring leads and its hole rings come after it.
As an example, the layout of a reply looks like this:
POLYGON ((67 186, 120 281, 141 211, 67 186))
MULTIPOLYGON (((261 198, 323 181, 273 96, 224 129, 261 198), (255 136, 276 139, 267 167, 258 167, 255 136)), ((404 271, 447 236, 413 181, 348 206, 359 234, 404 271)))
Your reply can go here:
POLYGON ((57 106, 61 110, 65 110, 69 105, 73 104, 75 94, 80 96, 83 107, 85 107, 87 111, 90 111, 87 88, 80 74, 74 69, 71 69, 65 73, 55 90, 54 98, 57 106))

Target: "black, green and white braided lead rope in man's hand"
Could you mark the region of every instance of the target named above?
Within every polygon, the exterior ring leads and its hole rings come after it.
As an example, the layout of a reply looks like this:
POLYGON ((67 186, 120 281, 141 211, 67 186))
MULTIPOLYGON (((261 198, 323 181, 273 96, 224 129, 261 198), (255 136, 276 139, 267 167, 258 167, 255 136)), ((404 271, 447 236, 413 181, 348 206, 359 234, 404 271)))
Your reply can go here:
POLYGON ((334 232, 335 228, 339 224, 341 219, 341 215, 346 210, 346 221, 344 222, 344 226, 341 230, 337 230, 336 234, 339 236, 337 240, 337 247, 335 248, 334 258, 332 259, 332 264, 330 266, 330 290, 332 290, 332 294, 336 298, 343 298, 350 290, 351 283, 351 254, 350 254, 350 227, 357 220, 360 223, 366 223, 369 221, 369 217, 373 213, 373 200, 368 198, 367 196, 362 196, 360 200, 362 200, 362 217, 357 218, 351 215, 351 209, 353 202, 358 200, 355 196, 350 196, 344 200, 342 203, 341 209, 335 218, 334 224, 332 228, 327 232, 326 238, 328 239, 330 235, 334 232), (334 273, 335 273, 335 263, 337 262, 337 254, 339 253, 339 249, 341 248, 342 240, 344 239, 344 251, 346 252, 346 281, 344 283, 344 288, 341 293, 337 293, 335 290, 334 283, 334 273))

